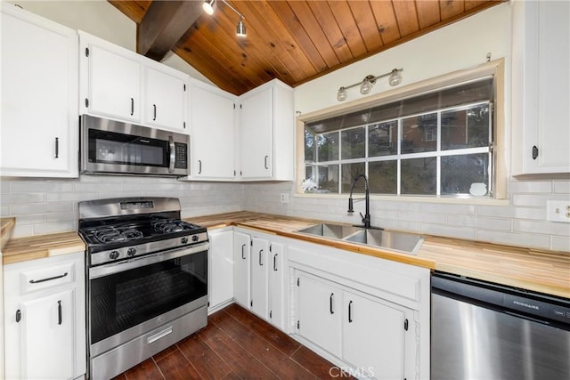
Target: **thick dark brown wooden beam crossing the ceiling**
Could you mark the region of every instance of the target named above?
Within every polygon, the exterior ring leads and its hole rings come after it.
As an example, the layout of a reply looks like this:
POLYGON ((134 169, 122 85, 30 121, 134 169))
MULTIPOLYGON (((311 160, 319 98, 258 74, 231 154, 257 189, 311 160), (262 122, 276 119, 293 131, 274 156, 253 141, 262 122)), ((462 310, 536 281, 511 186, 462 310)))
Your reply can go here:
POLYGON ((198 20, 201 1, 153 1, 137 28, 136 53, 161 61, 198 20))

